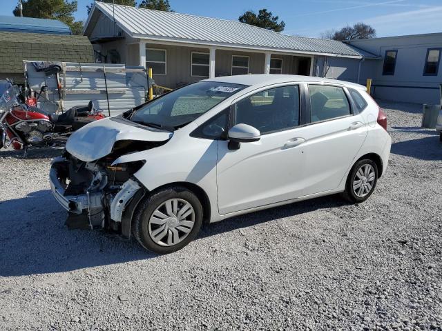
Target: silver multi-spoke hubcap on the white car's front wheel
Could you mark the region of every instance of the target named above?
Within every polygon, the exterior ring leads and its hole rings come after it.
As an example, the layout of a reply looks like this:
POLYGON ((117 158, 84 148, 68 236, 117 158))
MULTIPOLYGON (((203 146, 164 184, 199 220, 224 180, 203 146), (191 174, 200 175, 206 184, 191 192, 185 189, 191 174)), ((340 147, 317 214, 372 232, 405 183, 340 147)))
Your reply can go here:
POLYGON ((173 246, 186 238, 195 224, 195 211, 183 199, 170 199, 153 212, 148 232, 158 245, 173 246))

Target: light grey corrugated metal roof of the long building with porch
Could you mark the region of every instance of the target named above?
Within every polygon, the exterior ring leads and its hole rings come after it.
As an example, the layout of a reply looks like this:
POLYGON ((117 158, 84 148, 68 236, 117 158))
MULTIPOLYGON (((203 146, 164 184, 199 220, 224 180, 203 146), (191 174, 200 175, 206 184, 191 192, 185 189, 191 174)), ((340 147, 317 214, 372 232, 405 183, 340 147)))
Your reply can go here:
POLYGON ((162 12, 112 3, 95 2, 85 31, 95 10, 100 10, 134 38, 197 43, 209 46, 249 48, 340 57, 374 57, 341 41, 295 37, 250 26, 239 21, 213 19, 177 12, 162 12))

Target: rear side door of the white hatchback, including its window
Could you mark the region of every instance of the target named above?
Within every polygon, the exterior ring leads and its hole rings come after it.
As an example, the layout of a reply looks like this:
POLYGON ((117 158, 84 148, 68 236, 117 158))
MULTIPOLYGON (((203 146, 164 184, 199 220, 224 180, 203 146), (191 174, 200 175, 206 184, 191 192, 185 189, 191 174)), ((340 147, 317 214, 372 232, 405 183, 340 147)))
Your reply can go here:
POLYGON ((304 195, 338 188, 367 137, 367 126, 345 88, 308 85, 304 195))

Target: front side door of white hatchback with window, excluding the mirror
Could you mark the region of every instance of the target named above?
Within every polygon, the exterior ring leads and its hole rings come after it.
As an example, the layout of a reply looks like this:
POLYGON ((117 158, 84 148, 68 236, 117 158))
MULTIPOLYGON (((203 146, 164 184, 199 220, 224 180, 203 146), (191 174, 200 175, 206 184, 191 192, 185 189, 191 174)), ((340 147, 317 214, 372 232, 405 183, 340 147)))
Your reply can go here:
POLYGON ((304 169, 299 150, 300 87, 278 86, 234 102, 231 123, 260 130, 260 140, 229 149, 218 143, 217 185, 220 214, 298 197, 304 169))

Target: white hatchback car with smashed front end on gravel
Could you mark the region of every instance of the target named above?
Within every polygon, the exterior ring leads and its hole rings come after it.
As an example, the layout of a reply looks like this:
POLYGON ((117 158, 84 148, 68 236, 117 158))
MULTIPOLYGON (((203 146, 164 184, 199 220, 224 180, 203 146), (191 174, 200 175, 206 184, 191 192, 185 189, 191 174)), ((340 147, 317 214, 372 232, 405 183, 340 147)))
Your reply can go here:
POLYGON ((68 225, 174 252, 203 221, 342 192, 385 172, 385 114, 363 86, 257 74, 206 79, 74 132, 50 183, 68 225))

